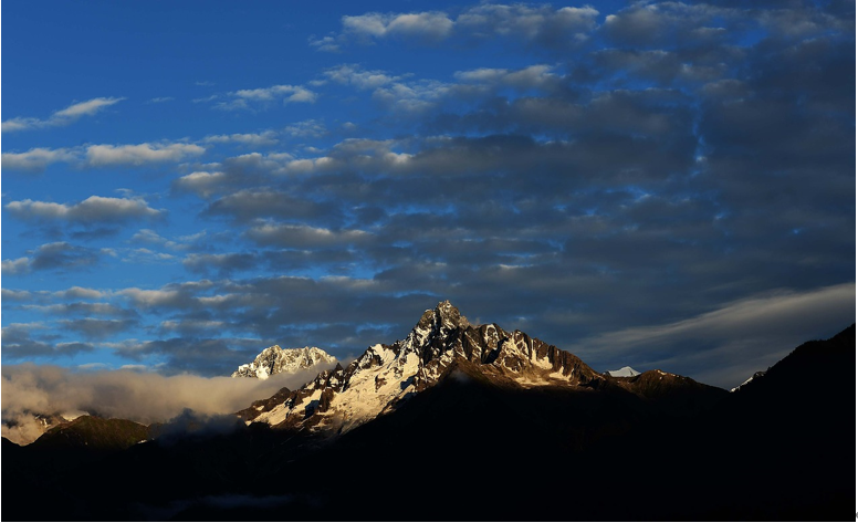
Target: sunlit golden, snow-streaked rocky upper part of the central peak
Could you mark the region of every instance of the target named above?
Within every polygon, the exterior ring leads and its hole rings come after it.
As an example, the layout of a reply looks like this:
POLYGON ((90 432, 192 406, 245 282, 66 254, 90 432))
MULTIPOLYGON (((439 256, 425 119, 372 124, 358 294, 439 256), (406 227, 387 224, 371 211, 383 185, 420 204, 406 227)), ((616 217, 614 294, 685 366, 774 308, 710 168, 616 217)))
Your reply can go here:
MULTIPOLYGON (((574 354, 521 331, 509 332, 494 323, 471 325, 444 301, 427 310, 404 339, 374 345, 347 367, 337 364, 304 387, 278 393, 279 400, 258 401, 239 416, 248 425, 339 435, 396 410, 446 379, 473 379, 515 390, 628 391, 673 404, 681 396, 694 408, 699 398, 725 393, 662 372, 628 379, 605 376, 574 354)), ((673 410, 678 407, 672 406, 673 410)))

